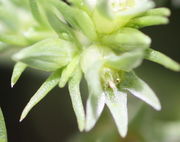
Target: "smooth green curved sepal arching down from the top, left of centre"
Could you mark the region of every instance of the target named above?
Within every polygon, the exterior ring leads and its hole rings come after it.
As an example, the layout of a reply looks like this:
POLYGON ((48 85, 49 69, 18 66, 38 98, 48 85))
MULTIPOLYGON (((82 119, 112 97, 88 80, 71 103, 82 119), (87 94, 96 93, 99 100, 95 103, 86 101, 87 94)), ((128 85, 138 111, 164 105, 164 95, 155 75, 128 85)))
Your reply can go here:
POLYGON ((95 40, 97 38, 94 24, 85 11, 70 7, 61 1, 57 3, 56 7, 62 13, 65 20, 71 24, 71 26, 75 29, 82 30, 82 32, 91 40, 95 40))

